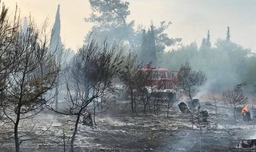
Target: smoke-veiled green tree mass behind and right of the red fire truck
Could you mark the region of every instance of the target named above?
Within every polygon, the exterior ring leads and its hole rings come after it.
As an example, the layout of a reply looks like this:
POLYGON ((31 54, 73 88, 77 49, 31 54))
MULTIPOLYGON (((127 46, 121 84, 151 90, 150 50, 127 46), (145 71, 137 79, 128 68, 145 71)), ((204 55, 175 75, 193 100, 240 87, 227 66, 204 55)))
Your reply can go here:
POLYGON ((159 66, 177 71, 184 62, 190 62, 194 69, 206 72, 209 87, 215 91, 227 90, 241 81, 256 84, 255 57, 250 49, 236 43, 217 40, 214 47, 200 49, 196 43, 182 46, 160 56, 159 66))

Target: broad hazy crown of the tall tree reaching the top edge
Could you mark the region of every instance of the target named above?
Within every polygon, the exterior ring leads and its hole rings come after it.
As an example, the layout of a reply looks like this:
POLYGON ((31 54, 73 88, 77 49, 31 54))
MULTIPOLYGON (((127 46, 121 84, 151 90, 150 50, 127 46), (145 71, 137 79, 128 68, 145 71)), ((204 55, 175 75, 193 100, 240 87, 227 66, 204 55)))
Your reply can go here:
MULTIPOLYGON (((128 10, 129 2, 121 0, 89 0, 92 14, 86 18, 86 22, 95 24, 92 32, 97 37, 102 37, 102 42, 107 37, 118 43, 131 42, 134 37, 134 21, 127 21, 130 14, 128 10)), ((89 36, 86 37, 88 39, 89 36)), ((99 40, 99 38, 98 38, 99 40)))

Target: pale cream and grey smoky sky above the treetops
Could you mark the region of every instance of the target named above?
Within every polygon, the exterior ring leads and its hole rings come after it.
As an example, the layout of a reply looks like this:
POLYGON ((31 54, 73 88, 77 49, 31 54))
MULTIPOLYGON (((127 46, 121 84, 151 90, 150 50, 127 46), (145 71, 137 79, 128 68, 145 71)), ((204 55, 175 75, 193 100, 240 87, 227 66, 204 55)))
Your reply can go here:
MULTIPOLYGON (((4 0, 5 5, 14 10, 15 4, 21 15, 34 16, 41 24, 48 17, 52 26, 57 4, 60 4, 61 36, 67 48, 77 49, 83 43, 83 37, 92 27, 84 17, 89 17, 91 10, 86 0, 4 0)), ((183 44, 194 41, 199 45, 210 30, 212 44, 217 38, 225 39, 226 27, 230 27, 231 40, 256 52, 256 1, 255 0, 128 0, 135 27, 145 27, 153 21, 156 26, 160 21, 171 21, 167 30, 171 37, 183 38, 183 44)))

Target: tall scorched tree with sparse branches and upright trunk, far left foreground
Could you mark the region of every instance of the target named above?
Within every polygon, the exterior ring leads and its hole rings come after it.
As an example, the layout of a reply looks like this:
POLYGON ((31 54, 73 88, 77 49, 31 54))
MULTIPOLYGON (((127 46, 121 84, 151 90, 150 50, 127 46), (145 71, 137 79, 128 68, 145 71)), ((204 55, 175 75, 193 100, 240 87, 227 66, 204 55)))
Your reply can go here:
POLYGON ((43 95, 56 86, 59 69, 53 55, 48 52, 44 29, 38 30, 34 21, 30 20, 25 31, 17 30, 10 45, 9 51, 15 55, 15 68, 6 81, 8 87, 5 87, 2 109, 5 118, 13 123, 15 150, 18 152, 23 141, 34 139, 30 137, 34 127, 28 134, 19 135, 19 124, 41 112, 41 107, 51 99, 43 95), (44 62, 42 72, 41 62, 44 62))

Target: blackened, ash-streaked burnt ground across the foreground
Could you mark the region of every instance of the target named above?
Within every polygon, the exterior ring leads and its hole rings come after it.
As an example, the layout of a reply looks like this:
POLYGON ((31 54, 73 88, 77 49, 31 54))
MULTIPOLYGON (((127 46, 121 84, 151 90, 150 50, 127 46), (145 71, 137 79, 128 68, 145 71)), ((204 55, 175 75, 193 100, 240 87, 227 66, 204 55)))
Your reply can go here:
MULTIPOLYGON (((242 122, 240 109, 235 120, 231 108, 219 106, 219 113, 215 114, 211 103, 202 102, 201 105, 202 109, 208 110, 210 116, 209 125, 203 128, 202 138, 199 128, 192 128, 190 114, 181 113, 177 104, 170 109, 167 118, 167 111, 163 108, 158 115, 147 109, 145 116, 143 108, 138 105, 137 116, 131 114, 128 102, 112 103, 107 112, 96 116, 96 125, 93 127, 79 123, 75 150, 256 151, 254 148, 237 147, 242 139, 256 135, 256 122, 242 122)), ((63 151, 63 129, 67 138, 70 137, 74 119, 72 116, 62 116, 45 110, 34 119, 21 122, 21 135, 28 133, 31 124, 36 124, 29 138, 37 137, 52 124, 41 137, 24 141, 21 151, 63 151)), ((13 137, 11 125, 0 123, 0 152, 15 150, 13 137)), ((69 147, 66 147, 66 151, 69 151, 69 147)))

